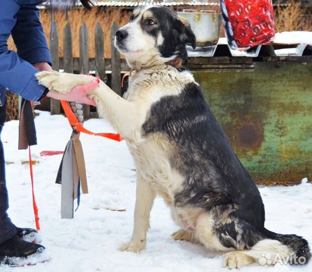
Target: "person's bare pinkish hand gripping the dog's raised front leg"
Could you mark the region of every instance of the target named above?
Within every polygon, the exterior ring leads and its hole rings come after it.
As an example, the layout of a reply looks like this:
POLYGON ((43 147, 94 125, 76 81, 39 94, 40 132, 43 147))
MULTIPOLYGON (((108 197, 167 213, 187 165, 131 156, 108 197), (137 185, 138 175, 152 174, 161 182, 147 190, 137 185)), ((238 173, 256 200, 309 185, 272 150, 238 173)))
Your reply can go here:
POLYGON ((57 100, 65 100, 71 102, 79 102, 92 106, 97 106, 93 99, 89 98, 87 94, 98 87, 100 80, 94 80, 86 85, 79 85, 70 90, 68 94, 62 94, 55 91, 49 91, 47 97, 52 97, 57 100))

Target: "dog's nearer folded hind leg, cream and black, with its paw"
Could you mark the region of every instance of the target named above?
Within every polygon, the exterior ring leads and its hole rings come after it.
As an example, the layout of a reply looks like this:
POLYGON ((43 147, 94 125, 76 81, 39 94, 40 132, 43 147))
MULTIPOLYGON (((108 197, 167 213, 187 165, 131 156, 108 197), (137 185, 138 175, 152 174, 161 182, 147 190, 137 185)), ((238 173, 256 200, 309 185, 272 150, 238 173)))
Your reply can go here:
POLYGON ((207 248, 228 251, 223 261, 228 268, 240 268, 258 260, 249 253, 265 239, 251 224, 233 216, 236 209, 235 205, 217 206, 202 213, 195 230, 199 241, 207 248))

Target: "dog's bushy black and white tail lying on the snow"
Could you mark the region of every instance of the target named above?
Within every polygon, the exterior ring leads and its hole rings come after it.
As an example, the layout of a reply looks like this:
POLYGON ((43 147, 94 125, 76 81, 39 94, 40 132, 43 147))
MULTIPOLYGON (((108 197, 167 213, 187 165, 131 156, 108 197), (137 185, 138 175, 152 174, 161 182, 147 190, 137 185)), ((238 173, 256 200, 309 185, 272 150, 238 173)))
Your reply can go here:
POLYGON ((295 234, 278 234, 267 229, 262 232, 266 237, 244 253, 260 264, 306 264, 311 252, 307 241, 295 234))

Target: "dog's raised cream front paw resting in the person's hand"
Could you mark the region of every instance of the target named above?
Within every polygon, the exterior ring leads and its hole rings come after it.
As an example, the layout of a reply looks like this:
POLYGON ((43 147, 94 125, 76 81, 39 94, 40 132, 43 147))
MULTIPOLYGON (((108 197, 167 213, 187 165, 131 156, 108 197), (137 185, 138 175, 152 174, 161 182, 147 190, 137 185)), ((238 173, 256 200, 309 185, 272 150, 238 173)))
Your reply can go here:
POLYGON ((39 72, 36 75, 39 83, 49 90, 67 94, 70 90, 78 85, 85 85, 95 80, 94 77, 86 75, 73 75, 67 73, 39 72))

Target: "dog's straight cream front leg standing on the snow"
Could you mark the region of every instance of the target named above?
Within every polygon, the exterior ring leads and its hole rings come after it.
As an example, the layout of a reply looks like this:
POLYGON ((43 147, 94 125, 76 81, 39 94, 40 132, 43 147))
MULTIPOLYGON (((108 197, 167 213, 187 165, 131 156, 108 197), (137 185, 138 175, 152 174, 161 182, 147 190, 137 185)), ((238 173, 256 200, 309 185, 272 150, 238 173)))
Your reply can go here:
POLYGON ((123 244, 119 250, 139 252, 145 248, 146 234, 149 229, 149 214, 154 198, 155 192, 137 169, 133 233, 130 242, 123 244))

